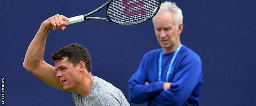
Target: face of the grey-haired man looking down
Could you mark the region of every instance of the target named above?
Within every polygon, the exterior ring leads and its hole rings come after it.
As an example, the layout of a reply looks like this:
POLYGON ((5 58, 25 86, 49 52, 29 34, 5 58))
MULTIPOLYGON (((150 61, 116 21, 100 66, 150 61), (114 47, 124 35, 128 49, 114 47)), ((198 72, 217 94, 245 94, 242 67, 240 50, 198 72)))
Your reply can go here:
POLYGON ((164 50, 172 50, 180 42, 180 34, 183 24, 180 24, 176 30, 176 24, 169 11, 162 11, 154 17, 154 29, 158 43, 164 50))

